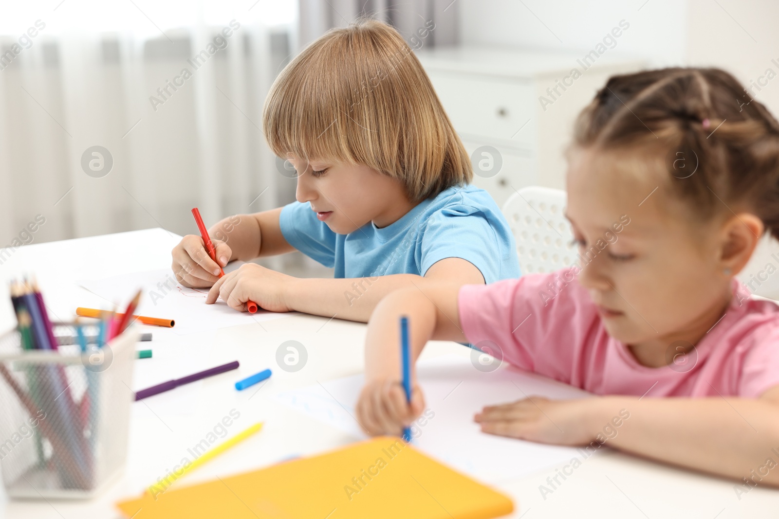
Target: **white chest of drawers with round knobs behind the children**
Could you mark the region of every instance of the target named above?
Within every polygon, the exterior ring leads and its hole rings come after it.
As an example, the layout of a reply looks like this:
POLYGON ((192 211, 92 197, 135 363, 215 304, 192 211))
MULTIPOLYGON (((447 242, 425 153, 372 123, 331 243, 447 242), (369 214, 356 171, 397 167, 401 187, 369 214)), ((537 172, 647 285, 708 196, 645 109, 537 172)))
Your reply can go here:
POLYGON ((592 63, 582 62, 584 54, 495 47, 417 53, 468 154, 481 146, 498 151, 499 159, 479 154, 488 171, 474 168, 474 184, 499 206, 528 185, 565 188, 563 153, 576 115, 610 75, 643 65, 608 51, 592 63), (580 72, 576 79, 574 68, 580 72), (497 173, 495 160, 502 163, 497 173))

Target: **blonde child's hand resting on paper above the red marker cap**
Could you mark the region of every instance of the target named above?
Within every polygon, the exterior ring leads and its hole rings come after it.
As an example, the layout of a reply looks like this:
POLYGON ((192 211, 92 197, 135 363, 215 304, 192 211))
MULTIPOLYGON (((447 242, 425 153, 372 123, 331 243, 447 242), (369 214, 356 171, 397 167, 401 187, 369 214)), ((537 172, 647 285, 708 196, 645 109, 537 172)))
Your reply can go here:
POLYGON ((221 297, 231 308, 246 310, 246 301, 252 300, 264 310, 289 312, 284 301, 286 290, 295 281, 291 275, 282 274, 256 263, 241 265, 238 270, 225 274, 208 292, 206 303, 217 302, 221 297))

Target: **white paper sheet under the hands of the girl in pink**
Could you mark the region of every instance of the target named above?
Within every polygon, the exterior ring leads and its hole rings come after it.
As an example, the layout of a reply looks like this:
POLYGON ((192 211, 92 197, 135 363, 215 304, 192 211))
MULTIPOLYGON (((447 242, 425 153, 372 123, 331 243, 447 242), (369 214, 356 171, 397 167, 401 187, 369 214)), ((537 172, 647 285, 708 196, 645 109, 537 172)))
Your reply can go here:
MULTIPOLYGON (((543 468, 581 458, 572 447, 536 444, 481 433, 474 413, 485 405, 513 402, 526 396, 583 398, 585 391, 502 366, 482 373, 460 356, 443 356, 418 363, 418 380, 432 418, 412 430, 412 444, 485 482, 497 483, 533 474, 543 468)), ((278 401, 357 438, 365 438, 354 419, 354 405, 363 376, 285 391, 278 401)))

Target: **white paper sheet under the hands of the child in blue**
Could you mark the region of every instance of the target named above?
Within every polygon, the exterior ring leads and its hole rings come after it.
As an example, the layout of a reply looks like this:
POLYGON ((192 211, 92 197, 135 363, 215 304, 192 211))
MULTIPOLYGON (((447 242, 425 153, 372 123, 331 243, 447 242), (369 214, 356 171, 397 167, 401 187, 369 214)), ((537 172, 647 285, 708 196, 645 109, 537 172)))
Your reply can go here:
POLYGON ((290 315, 265 310, 259 310, 256 314, 239 312, 228 307, 221 299, 214 304, 206 304, 208 289, 189 289, 179 285, 173 271, 168 268, 104 279, 81 280, 78 283, 104 298, 107 304, 114 303, 120 308, 129 303, 138 289, 142 289, 143 296, 135 313, 146 317, 174 319, 176 324, 172 331, 178 335, 252 324, 290 315))

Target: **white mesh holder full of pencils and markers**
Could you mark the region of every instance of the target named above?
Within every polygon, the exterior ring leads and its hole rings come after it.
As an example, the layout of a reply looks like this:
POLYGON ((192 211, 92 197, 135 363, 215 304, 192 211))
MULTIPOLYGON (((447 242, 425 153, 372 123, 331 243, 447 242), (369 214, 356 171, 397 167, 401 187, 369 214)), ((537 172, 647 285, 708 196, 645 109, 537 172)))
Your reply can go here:
POLYGON ((131 327, 102 349, 51 352, 24 351, 16 330, 0 337, 0 471, 10 497, 89 498, 121 474, 137 338, 131 327))

